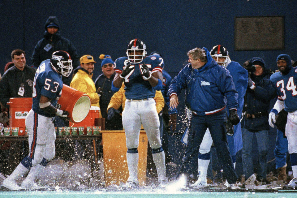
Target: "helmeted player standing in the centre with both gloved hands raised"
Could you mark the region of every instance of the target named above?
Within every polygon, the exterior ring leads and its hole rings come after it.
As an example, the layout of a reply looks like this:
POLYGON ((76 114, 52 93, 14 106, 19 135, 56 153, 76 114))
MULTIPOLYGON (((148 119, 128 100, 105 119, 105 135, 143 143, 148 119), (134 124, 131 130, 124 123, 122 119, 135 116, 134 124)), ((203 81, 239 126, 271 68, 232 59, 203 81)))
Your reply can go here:
POLYGON ((112 91, 118 91, 123 82, 126 91, 122 117, 128 148, 129 170, 129 178, 125 187, 129 188, 138 185, 137 148, 141 124, 152 148, 159 184, 163 186, 167 182, 165 154, 160 140, 160 122, 154 100, 156 90, 162 88, 164 63, 159 55, 146 56, 145 49, 146 46, 140 39, 133 39, 128 44, 127 57, 120 57, 114 62, 116 74, 112 83, 112 91))

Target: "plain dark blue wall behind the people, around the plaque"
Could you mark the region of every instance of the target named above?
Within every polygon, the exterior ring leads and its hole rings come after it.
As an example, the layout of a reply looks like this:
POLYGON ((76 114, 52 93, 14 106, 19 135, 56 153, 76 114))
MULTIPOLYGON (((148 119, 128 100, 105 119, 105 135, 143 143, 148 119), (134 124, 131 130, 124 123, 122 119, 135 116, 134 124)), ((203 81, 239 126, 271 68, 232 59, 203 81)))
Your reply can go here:
POLYGON ((49 16, 57 16, 62 36, 80 56, 91 54, 97 61, 93 79, 101 74, 100 54, 113 60, 125 56, 128 42, 140 38, 147 51, 159 51, 165 69, 175 76, 187 63, 187 51, 225 45, 231 60, 242 64, 259 56, 276 69, 278 54, 296 55, 295 0, 212 1, 29 1, 0 0, 0 72, 11 61, 13 49, 24 49, 28 65, 37 41, 43 37, 49 16), (234 19, 238 16, 284 16, 285 49, 235 51, 234 19))

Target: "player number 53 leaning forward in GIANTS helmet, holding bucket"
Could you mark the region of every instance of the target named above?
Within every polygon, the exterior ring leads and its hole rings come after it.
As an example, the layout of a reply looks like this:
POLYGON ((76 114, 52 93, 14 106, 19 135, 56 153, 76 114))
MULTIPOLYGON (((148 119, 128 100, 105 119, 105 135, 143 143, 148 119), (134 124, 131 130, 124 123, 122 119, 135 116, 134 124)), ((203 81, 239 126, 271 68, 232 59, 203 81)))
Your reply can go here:
POLYGON ((72 71, 72 60, 65 51, 56 51, 50 59, 41 62, 33 83, 32 109, 26 117, 29 136, 29 154, 2 183, 10 190, 43 188, 34 183, 34 179, 55 156, 54 116, 67 118, 69 113, 56 108, 61 97, 63 82, 61 75, 68 77, 72 71), (16 179, 26 174, 21 187, 16 179))

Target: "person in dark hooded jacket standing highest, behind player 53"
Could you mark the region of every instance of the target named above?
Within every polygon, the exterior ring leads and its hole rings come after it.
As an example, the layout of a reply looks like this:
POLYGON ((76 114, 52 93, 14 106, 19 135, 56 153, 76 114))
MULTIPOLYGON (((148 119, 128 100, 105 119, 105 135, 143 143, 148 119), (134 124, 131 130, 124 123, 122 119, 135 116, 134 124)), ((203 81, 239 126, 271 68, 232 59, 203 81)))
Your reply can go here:
MULTIPOLYGON (((55 16, 50 16, 45 22, 44 38, 37 42, 33 54, 32 64, 35 67, 39 67, 40 63, 46 59, 51 58, 51 55, 58 50, 63 50, 70 54, 72 59, 72 66, 76 68, 80 66, 79 56, 76 48, 65 37, 61 36, 58 19, 55 16)), ((68 77, 62 76, 64 84, 70 85, 72 74, 68 77)))

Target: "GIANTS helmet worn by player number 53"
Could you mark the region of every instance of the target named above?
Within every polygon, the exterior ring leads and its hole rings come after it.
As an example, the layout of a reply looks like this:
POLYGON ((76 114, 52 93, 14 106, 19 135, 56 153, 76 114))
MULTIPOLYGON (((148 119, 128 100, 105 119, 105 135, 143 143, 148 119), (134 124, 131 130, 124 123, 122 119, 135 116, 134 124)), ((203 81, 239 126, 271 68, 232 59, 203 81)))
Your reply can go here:
POLYGON ((72 60, 65 51, 54 52, 50 59, 50 64, 55 71, 65 77, 68 77, 72 72, 72 60))

